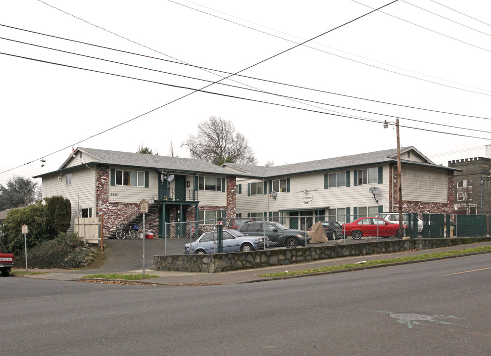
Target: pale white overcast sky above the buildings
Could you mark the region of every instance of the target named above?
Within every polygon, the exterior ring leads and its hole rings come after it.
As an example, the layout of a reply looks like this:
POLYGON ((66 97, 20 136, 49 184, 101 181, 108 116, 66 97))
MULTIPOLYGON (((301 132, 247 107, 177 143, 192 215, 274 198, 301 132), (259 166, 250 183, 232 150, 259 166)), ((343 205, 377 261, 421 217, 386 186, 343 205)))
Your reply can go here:
POLYGON ((181 143, 211 115, 260 165, 395 148, 382 123, 396 116, 401 145, 437 164, 485 156, 491 2, 398 0, 358 18, 390 2, 0 0, 0 183, 58 169, 72 146, 168 155, 173 142, 189 157, 181 143), (193 93, 218 71, 249 78, 193 93))

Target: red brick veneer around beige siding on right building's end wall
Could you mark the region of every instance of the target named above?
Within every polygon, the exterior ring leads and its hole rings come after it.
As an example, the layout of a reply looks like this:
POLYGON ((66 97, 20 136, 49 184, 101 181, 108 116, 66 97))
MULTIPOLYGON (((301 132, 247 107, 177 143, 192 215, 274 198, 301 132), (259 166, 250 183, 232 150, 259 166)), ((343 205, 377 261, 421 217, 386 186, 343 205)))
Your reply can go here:
MULTIPOLYGON (((397 212, 399 208, 399 192, 397 190, 397 166, 393 165, 392 167, 390 167, 390 170, 388 211, 397 212), (391 197, 393 197, 393 199, 391 197)), ((447 171, 447 187, 448 193, 446 203, 404 200, 404 195, 402 195, 402 211, 428 214, 453 214, 453 200, 455 194, 453 171, 447 171)))

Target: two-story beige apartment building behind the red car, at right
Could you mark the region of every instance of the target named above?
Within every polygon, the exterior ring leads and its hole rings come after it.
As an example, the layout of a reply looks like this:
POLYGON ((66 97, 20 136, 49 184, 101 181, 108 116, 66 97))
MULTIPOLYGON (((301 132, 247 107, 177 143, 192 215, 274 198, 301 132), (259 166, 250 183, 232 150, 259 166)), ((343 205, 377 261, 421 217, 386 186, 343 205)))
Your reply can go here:
MULTIPOLYGON (((222 166, 255 176, 237 178, 239 217, 271 218, 303 229, 313 220, 344 223, 398 210, 395 148, 285 166, 222 166)), ((403 211, 453 213, 454 171, 459 170, 434 164, 412 146, 402 148, 403 211)))

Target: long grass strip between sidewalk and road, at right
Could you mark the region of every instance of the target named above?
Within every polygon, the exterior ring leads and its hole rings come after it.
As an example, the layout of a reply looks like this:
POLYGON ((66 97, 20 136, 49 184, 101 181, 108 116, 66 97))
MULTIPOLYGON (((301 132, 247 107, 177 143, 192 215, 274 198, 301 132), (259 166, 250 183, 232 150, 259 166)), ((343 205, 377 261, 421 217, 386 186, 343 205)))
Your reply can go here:
POLYGON ((458 256, 458 255, 464 255, 464 254, 468 254, 468 253, 486 252, 486 251, 491 251, 491 246, 475 247, 475 248, 470 248, 470 249, 465 249, 465 250, 452 250, 452 251, 446 251, 446 252, 436 252, 436 253, 432 253, 432 254, 419 255, 419 256, 398 257, 398 258, 387 259, 387 260, 373 260, 373 261, 367 261, 364 263, 354 263, 354 264, 346 264, 346 265, 331 266, 331 267, 312 268, 312 269, 298 270, 298 271, 292 271, 292 272, 267 273, 267 274, 260 274, 259 276, 260 277, 266 277, 266 278, 278 278, 278 277, 311 274, 311 273, 318 273, 318 272, 330 272, 330 271, 356 268, 356 267, 369 267, 369 266, 386 265, 386 264, 398 263, 398 262, 409 262, 409 261, 427 260, 427 259, 432 259, 432 258, 442 258, 442 257, 448 257, 448 256, 458 256))

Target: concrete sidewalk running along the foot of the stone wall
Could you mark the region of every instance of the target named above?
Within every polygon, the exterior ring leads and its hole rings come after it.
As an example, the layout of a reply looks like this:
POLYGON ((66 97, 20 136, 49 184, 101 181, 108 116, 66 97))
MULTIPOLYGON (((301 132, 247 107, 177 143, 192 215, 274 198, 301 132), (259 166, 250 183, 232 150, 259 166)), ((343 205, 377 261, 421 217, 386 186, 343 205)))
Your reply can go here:
MULTIPOLYGON (((338 266, 338 265, 345 265, 345 264, 353 264, 361 261, 386 260, 386 259, 393 259, 398 257, 419 256, 419 255, 426 255, 435 252, 464 250, 468 248, 483 247, 483 246, 491 246, 491 241, 480 242, 480 243, 469 244, 469 245, 444 247, 439 249, 417 250, 417 251, 407 251, 407 252, 358 256, 358 257, 346 257, 346 258, 332 259, 332 260, 313 261, 313 262, 302 263, 302 264, 285 265, 280 267, 276 266, 276 267, 264 267, 264 268, 257 268, 257 269, 242 269, 242 270, 236 270, 230 272, 217 272, 217 273, 156 271, 146 268, 145 269, 146 275, 157 275, 158 277, 145 279, 142 280, 141 282, 149 283, 149 284, 168 285, 168 286, 196 286, 196 285, 214 285, 214 284, 218 285, 218 284, 238 284, 238 283, 259 282, 264 280, 271 280, 268 278, 259 277, 260 274, 264 274, 264 273, 277 273, 277 272, 284 272, 286 270, 296 271, 296 270, 304 270, 310 268, 331 267, 331 266, 338 266)), ((15 270, 23 271, 24 269, 15 269, 15 270)), ((114 270, 107 270, 106 268, 104 268, 104 266, 98 269, 84 269, 84 270, 30 269, 30 271, 43 271, 43 272, 46 271, 47 273, 27 275, 26 277, 28 278, 71 280, 71 281, 78 281, 83 276, 90 275, 90 274, 116 273, 114 270)), ((143 267, 140 269, 117 271, 117 273, 119 274, 137 274, 142 272, 143 272, 143 267)))

